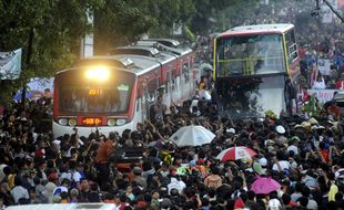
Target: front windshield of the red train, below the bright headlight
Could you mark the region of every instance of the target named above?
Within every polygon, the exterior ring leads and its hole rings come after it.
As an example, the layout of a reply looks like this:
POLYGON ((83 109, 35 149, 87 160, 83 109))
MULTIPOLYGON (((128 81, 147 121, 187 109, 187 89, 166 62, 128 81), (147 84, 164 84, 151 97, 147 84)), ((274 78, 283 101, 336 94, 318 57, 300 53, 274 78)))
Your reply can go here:
POLYGON ((57 77, 59 112, 84 114, 128 112, 134 82, 132 74, 115 72, 113 78, 102 83, 87 81, 77 74, 67 72, 57 77))

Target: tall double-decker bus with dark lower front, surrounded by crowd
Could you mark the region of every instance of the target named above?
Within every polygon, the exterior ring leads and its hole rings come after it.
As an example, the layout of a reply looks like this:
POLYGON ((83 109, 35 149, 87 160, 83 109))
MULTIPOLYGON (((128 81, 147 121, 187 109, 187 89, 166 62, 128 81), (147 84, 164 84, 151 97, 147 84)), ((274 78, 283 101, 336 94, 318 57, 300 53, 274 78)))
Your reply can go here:
POLYGON ((300 75, 293 24, 236 27, 214 40, 217 102, 235 117, 296 111, 300 75))

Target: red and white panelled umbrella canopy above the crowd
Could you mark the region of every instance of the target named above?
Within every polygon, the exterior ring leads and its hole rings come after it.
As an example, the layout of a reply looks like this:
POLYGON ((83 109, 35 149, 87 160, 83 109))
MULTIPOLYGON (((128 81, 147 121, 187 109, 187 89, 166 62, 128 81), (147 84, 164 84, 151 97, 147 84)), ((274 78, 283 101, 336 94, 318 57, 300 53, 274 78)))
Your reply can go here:
POLYGON ((256 153, 254 150, 247 147, 239 146, 239 147, 231 147, 231 148, 224 149, 216 156, 216 159, 220 159, 222 161, 247 159, 255 155, 256 153))

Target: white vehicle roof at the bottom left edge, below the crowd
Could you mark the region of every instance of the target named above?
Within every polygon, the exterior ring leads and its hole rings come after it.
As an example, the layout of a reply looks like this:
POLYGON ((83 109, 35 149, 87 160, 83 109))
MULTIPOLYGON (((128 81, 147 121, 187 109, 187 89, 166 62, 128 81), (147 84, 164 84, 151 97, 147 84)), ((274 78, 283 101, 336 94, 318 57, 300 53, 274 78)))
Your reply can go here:
POLYGON ((54 203, 54 204, 20 204, 10 206, 7 210, 115 210, 115 204, 111 203, 54 203))

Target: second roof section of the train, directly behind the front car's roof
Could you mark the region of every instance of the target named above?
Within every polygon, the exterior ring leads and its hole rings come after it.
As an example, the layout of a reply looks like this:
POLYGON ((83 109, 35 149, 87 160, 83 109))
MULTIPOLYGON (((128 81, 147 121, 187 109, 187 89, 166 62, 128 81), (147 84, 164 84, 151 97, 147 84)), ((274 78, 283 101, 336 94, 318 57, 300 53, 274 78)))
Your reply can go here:
POLYGON ((152 46, 138 46, 138 45, 131 45, 131 46, 119 46, 115 49, 112 49, 110 51, 111 55, 142 55, 142 56, 149 56, 156 59, 161 64, 171 62, 174 60, 174 55, 159 51, 155 48, 152 46))

